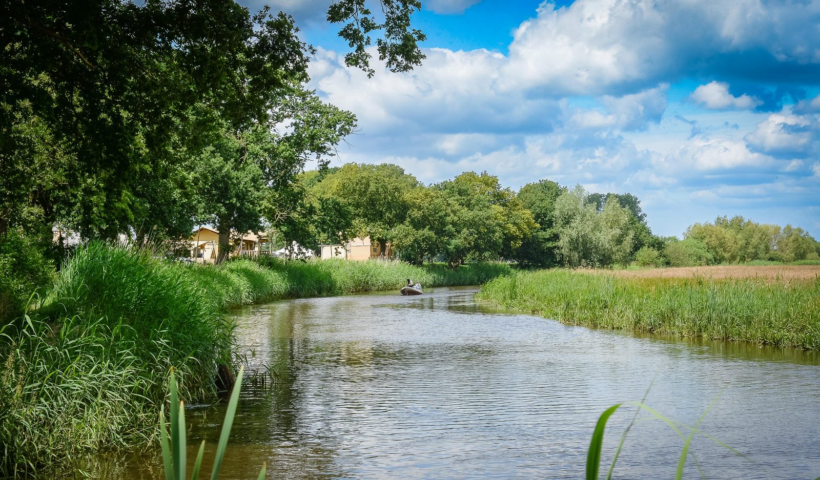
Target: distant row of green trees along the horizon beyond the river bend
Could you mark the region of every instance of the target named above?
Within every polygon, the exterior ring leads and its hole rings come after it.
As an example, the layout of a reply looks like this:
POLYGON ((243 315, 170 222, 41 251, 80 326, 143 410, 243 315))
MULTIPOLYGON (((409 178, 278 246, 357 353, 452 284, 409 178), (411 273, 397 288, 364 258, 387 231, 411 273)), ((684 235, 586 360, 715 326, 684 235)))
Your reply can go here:
POLYGON ((389 242, 402 260, 508 260, 523 268, 713 265, 818 258, 803 229, 735 217, 694 224, 683 239, 652 233, 631 193, 590 193, 550 181, 518 192, 482 172, 424 185, 398 165, 348 163, 299 176, 311 199, 277 234, 317 250, 353 237, 389 242))

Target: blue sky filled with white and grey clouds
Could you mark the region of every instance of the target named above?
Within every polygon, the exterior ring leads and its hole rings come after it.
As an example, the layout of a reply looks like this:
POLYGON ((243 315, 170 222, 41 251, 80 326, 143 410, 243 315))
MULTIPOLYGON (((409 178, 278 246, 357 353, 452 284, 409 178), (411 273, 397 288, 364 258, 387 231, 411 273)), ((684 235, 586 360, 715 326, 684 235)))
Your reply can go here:
POLYGON ((331 165, 630 192, 664 236, 742 215, 820 239, 820 0, 422 0, 423 65, 371 79, 330 0, 267 3, 317 48, 309 88, 358 117, 331 165))

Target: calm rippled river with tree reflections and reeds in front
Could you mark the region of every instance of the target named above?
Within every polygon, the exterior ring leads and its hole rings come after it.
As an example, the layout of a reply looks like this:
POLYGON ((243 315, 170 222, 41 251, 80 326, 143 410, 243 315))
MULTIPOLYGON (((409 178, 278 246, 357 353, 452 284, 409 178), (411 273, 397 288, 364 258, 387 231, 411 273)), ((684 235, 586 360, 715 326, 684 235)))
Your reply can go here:
MULTIPOLYGON (((645 403, 696 435, 685 478, 820 476, 820 355, 570 327, 474 301, 476 288, 312 298, 235 311, 248 381, 221 477, 583 478, 594 423, 645 403), (654 383, 653 383, 654 379, 654 383), (718 398, 719 396, 719 398, 718 398), (716 401, 717 399, 717 401, 716 401)), ((224 405, 194 405, 190 456, 224 405)), ((635 409, 608 423, 606 471, 635 409)), ((614 478, 673 478, 683 441, 639 414, 614 478)), ((210 462, 206 462, 210 469, 210 462)), ((97 478, 161 478, 103 455, 97 478)), ((209 470, 208 470, 209 473, 209 470)))

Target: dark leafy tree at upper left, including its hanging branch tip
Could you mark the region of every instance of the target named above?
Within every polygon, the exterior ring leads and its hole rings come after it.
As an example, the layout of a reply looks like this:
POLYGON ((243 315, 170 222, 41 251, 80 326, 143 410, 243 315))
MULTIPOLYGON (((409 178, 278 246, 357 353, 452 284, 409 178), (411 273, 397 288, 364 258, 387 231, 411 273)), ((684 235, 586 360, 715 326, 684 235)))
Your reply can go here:
MULTIPOLYGON (((383 32, 376 45, 389 69, 418 65, 424 36, 410 16, 419 3, 381 5, 379 22, 364 0, 330 7, 328 20, 349 21, 341 32, 354 48, 349 63, 368 70, 365 47, 383 32)), ((287 101, 304 93, 312 52, 291 17, 267 9, 251 16, 230 0, 14 0, 0 21, 7 82, 0 172, 21 173, 3 184, 0 238, 28 205, 43 211, 44 224, 60 220, 85 237, 112 238, 148 224, 178 233, 198 203, 198 192, 186 190, 194 185, 189 161, 221 135, 222 124, 243 137, 286 117, 287 101), (25 175, 27 159, 43 147, 49 152, 40 174, 25 175)), ((307 109, 330 120, 335 133, 344 130, 337 127, 347 120, 321 110, 307 109)), ((332 138, 324 135, 326 145, 332 138)), ((309 135, 294 132, 290 140, 303 142, 298 152, 322 150, 309 135)))

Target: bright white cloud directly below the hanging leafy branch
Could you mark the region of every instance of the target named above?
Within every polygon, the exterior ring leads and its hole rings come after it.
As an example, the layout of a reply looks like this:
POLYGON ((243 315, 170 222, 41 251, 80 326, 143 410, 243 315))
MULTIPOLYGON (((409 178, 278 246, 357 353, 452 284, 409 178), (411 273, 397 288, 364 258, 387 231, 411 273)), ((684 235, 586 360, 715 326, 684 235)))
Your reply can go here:
POLYGON ((341 108, 354 111, 367 134, 435 131, 443 134, 546 132, 558 117, 553 99, 526 99, 494 86, 501 53, 488 50, 426 50, 412 73, 380 71, 367 79, 344 67, 334 52, 320 50, 312 61, 312 87, 341 108))

